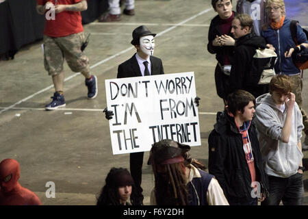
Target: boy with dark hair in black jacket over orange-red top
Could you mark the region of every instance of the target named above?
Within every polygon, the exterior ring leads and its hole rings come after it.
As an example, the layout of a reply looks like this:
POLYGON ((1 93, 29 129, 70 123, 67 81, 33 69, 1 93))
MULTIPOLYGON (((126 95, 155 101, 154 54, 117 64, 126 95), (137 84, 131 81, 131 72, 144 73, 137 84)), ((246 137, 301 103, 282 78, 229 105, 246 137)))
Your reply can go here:
POLYGON ((257 131, 253 125, 255 97, 237 90, 227 97, 209 134, 209 173, 218 180, 230 205, 257 205, 264 200, 267 179, 257 131))

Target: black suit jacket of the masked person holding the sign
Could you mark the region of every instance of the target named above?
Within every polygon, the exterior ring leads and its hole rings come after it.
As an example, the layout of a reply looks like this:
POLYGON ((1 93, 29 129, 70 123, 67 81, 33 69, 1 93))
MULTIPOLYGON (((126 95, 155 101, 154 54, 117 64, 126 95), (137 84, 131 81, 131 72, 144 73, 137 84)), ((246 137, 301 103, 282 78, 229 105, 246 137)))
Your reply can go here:
MULTIPOLYGON (((150 56, 151 60, 151 75, 164 74, 164 67, 162 60, 158 57, 150 56)), ((136 53, 127 61, 118 66, 117 78, 123 77, 139 77, 142 76, 138 61, 136 59, 136 53)))

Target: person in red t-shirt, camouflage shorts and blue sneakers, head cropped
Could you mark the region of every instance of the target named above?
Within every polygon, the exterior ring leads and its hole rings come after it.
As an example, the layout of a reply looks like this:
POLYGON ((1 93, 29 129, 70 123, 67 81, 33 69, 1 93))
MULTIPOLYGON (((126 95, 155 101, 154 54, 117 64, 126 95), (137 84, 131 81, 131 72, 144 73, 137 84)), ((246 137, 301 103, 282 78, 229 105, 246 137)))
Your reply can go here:
POLYGON ((97 96, 97 77, 90 74, 89 59, 81 49, 84 27, 81 11, 87 10, 86 0, 37 0, 38 14, 44 14, 44 67, 53 79, 55 93, 46 110, 64 107, 64 58, 73 72, 86 77, 88 98, 97 96))

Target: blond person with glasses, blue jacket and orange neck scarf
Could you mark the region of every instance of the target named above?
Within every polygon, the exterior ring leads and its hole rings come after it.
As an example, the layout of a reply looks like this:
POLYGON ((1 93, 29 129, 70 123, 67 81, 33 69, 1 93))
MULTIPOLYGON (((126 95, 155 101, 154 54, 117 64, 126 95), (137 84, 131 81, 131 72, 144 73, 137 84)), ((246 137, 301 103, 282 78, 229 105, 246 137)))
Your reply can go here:
MULTIPOLYGON (((285 3, 283 0, 268 0, 266 2, 266 12, 270 18, 270 23, 261 31, 261 36, 266 39, 268 44, 275 48, 277 53, 277 62, 275 64, 275 72, 277 75, 288 75, 292 83, 292 93, 295 94, 295 101, 300 107, 303 115, 303 124, 305 131, 305 142, 303 148, 308 145, 308 117, 302 108, 302 89, 303 81, 300 77, 300 70, 292 61, 291 53, 296 49, 294 40, 290 30, 290 19, 285 18, 285 3)), ((300 45, 307 45, 307 37, 300 25, 297 26, 297 40, 300 45)))

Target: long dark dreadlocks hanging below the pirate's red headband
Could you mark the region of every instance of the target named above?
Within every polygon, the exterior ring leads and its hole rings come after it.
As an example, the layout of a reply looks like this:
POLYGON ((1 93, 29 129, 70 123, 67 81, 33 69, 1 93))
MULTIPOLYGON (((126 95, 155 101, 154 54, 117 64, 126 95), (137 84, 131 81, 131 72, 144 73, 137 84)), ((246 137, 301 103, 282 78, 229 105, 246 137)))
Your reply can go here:
POLYGON ((188 205, 183 163, 153 165, 157 205, 188 205))

